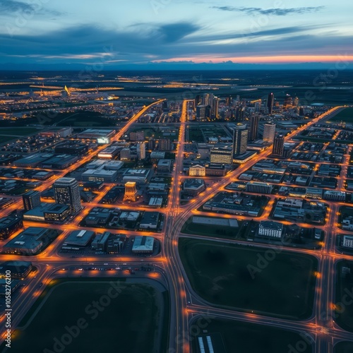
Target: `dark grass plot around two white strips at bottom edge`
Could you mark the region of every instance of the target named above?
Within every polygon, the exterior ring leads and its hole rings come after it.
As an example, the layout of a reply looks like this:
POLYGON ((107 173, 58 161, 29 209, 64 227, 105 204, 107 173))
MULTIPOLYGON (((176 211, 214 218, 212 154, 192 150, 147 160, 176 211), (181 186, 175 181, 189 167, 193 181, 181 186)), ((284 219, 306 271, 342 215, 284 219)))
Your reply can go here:
MULTIPOLYGON (((214 334, 220 334, 226 352, 237 353, 284 353, 284 352, 303 352, 312 353, 313 347, 309 337, 299 335, 292 331, 272 328, 270 326, 256 325, 253 323, 244 323, 218 318, 203 317, 193 321, 194 330, 200 327, 208 331, 207 335, 215 337, 214 334), (294 348, 294 350, 290 350, 294 348), (299 350, 297 349, 299 348, 299 350)), ((193 352, 198 352, 198 340, 192 341, 193 352)), ((217 343, 213 340, 213 344, 217 343)), ((217 349, 217 347, 214 346, 217 349)), ((215 349, 215 352, 217 350, 215 349)), ((348 351, 347 351, 348 352, 348 351)))

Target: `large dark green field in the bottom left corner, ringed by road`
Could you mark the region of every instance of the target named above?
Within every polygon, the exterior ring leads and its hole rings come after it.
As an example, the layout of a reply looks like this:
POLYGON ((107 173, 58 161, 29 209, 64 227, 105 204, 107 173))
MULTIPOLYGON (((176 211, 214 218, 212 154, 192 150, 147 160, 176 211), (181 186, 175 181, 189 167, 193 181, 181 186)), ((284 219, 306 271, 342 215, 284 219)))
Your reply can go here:
POLYGON ((57 282, 20 323, 11 353, 56 352, 57 340, 65 353, 165 350, 168 303, 152 285, 116 278, 57 282))

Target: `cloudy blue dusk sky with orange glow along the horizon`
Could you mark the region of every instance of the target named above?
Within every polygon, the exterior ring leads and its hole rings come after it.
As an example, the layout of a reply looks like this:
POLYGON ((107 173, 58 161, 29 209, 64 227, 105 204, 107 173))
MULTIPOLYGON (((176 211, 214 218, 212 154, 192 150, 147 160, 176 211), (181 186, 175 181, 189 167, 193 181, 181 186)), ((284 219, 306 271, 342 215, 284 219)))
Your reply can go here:
MULTIPOLYGON (((0 64, 352 62, 349 4, 245 1, 0 1, 0 64), (139 11, 136 11, 138 8, 139 11)), ((11 66, 5 66, 11 67, 11 66)), ((69 66, 68 66, 69 67, 69 66)))

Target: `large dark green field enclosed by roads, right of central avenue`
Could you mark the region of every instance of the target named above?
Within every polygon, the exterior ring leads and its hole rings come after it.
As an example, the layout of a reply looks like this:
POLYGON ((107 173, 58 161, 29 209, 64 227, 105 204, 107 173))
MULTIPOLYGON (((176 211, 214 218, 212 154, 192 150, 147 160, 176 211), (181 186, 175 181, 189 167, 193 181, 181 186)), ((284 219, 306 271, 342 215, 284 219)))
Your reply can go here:
POLYGON ((313 256, 187 238, 179 254, 193 289, 216 306, 294 320, 312 314, 313 256))

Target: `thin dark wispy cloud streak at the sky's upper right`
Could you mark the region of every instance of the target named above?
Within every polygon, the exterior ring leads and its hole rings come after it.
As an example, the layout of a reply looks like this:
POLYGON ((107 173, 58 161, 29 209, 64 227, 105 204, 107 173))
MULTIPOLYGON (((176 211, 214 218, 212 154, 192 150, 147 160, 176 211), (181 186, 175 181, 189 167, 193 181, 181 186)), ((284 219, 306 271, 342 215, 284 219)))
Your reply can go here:
POLYGON ((312 13, 321 11, 325 6, 309 6, 309 7, 297 7, 297 8, 268 8, 263 9, 259 7, 235 7, 235 6, 211 6, 222 11, 237 11, 244 12, 247 15, 274 15, 274 16, 287 16, 303 13, 312 13))

